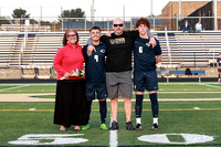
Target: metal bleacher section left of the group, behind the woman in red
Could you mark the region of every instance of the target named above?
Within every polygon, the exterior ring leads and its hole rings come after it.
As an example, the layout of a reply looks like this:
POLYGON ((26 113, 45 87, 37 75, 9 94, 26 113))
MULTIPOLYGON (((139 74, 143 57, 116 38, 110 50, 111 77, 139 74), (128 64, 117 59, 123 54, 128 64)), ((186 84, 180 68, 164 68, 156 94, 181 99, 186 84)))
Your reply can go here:
MULTIPOLYGON (((63 32, 2 33, 0 34, 0 67, 53 66, 56 51, 63 46, 63 32), (24 41, 25 40, 25 41, 24 41)), ((80 32, 80 45, 84 45, 88 32, 80 32)))

